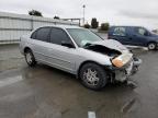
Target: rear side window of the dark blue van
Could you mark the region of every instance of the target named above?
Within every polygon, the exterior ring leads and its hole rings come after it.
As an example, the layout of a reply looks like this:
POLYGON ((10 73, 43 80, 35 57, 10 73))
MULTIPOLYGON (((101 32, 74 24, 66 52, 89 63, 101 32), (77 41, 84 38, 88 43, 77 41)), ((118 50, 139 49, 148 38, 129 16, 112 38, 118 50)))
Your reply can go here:
POLYGON ((116 36, 125 36, 125 34, 126 34, 125 27, 115 27, 113 31, 113 35, 116 35, 116 36))

